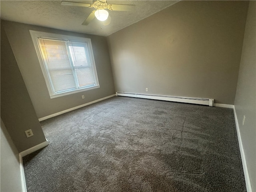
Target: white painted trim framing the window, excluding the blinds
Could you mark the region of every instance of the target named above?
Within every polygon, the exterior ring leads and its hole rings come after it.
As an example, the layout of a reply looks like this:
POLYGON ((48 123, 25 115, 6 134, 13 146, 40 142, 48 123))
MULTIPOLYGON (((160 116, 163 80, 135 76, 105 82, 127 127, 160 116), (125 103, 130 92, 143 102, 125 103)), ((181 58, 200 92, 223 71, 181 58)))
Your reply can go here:
POLYGON ((86 91, 86 90, 100 88, 100 84, 99 84, 99 81, 98 81, 98 75, 97 75, 97 71, 96 71, 96 66, 95 66, 95 61, 94 61, 94 56, 93 56, 93 52, 92 52, 92 42, 89 38, 62 35, 62 34, 54 34, 54 33, 48 33, 48 32, 40 32, 40 31, 34 31, 34 30, 29 30, 29 31, 30 31, 30 35, 32 37, 32 41, 34 43, 34 46, 36 48, 36 54, 38 56, 40 67, 42 69, 44 79, 45 79, 45 82, 46 82, 46 86, 48 88, 48 92, 50 94, 51 99, 52 98, 57 98, 57 97, 60 97, 60 96, 65 96, 65 95, 69 95, 69 94, 74 94, 74 93, 86 91), (52 38, 52 39, 55 39, 55 40, 64 40, 64 41, 85 42, 85 43, 87 43, 88 44, 88 49, 89 49, 88 51, 89 51, 89 55, 90 55, 90 60, 92 62, 92 69, 94 70, 94 74, 95 74, 96 86, 88 87, 88 88, 80 88, 80 89, 76 89, 76 90, 73 90, 73 91, 70 91, 70 92, 64 92, 64 93, 58 93, 58 94, 54 93, 54 90, 52 89, 52 85, 50 83, 51 82, 50 77, 48 76, 48 72, 47 72, 46 66, 44 64, 44 59, 43 59, 41 48, 40 48, 39 38, 47 38, 47 39, 52 38))

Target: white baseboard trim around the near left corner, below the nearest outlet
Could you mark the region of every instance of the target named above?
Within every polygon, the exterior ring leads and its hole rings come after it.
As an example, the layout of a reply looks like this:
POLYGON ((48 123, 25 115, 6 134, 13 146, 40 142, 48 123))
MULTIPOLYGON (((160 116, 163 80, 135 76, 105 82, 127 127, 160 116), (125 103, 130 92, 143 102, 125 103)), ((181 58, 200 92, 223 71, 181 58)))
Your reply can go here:
POLYGON ((49 142, 48 140, 46 139, 45 142, 42 142, 32 148, 29 148, 25 151, 22 151, 19 153, 19 160, 20 160, 20 176, 21 176, 21 182, 22 182, 22 192, 27 192, 27 187, 26 187, 26 179, 25 179, 25 173, 24 173, 24 167, 23 167, 23 160, 22 160, 22 157, 32 153, 32 152, 35 152, 36 150, 38 149, 41 149, 41 148, 44 148, 46 146, 48 146, 49 142))

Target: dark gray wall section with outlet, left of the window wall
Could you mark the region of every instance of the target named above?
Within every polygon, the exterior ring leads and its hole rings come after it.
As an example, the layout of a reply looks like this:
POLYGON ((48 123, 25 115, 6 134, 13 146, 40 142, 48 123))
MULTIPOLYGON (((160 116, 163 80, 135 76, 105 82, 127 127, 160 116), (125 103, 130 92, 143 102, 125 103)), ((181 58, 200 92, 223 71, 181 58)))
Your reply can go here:
POLYGON ((1 22, 1 118, 18 152, 46 141, 1 22), (27 138, 25 130, 34 136, 27 138))

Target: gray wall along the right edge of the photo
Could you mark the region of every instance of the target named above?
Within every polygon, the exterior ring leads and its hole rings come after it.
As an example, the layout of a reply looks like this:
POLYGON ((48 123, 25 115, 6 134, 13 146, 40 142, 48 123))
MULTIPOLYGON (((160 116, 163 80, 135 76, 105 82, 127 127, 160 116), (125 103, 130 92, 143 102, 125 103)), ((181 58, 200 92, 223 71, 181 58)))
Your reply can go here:
POLYGON ((252 191, 256 191, 256 1, 250 1, 235 108, 252 191), (242 125, 245 116, 244 126, 242 125))

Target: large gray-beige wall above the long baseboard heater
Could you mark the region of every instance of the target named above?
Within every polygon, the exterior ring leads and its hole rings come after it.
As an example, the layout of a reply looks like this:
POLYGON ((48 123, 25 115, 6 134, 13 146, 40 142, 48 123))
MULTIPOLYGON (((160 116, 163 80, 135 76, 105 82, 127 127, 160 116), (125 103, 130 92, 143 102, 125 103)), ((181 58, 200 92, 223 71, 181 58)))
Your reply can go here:
POLYGON ((234 104, 247 8, 181 1, 108 36, 116 91, 234 104))

